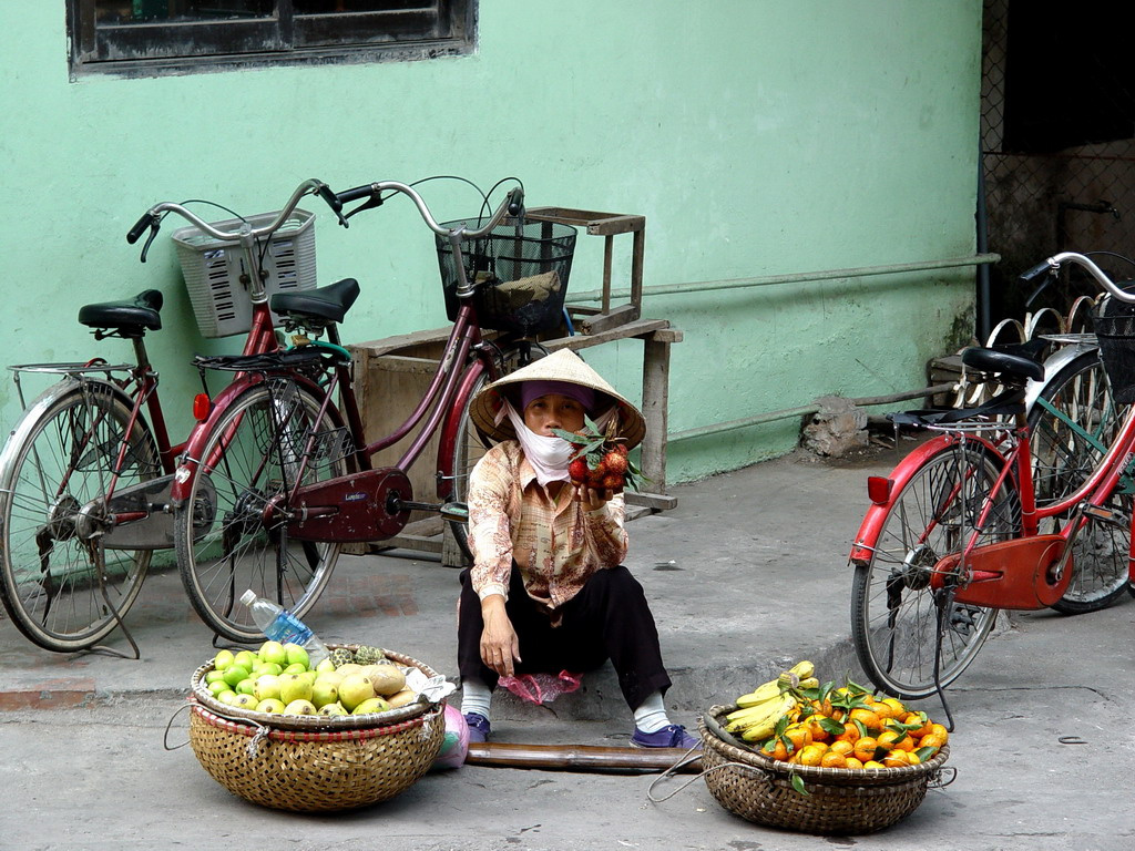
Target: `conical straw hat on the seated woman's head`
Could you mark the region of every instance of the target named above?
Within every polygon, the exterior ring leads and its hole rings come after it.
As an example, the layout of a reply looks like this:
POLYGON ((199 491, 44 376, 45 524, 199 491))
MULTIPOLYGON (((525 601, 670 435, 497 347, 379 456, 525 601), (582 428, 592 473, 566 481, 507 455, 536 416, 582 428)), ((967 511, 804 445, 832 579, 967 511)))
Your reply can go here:
MULTIPOLYGON (((609 403, 619 407, 617 436, 623 439, 627 448, 633 449, 642 443, 642 437, 646 435, 646 420, 642 419, 642 413, 570 348, 561 348, 547 357, 532 361, 527 366, 498 378, 477 394, 470 405, 469 415, 478 431, 490 440, 507 440, 516 437, 507 416, 503 418, 499 423, 496 420, 502 405, 501 391, 522 381, 566 381, 590 387, 592 390, 609 397, 609 403)), ((592 414, 598 416, 606 411, 608 401, 600 396, 596 401, 596 410, 592 414)))

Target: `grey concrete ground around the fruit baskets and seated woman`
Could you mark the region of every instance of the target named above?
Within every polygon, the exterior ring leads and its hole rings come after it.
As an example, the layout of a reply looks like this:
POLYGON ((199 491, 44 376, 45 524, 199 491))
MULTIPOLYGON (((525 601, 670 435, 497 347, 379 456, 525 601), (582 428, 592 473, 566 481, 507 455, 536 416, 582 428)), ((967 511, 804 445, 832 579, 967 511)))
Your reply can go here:
MULTIPOLYGON (((901 449, 909 448, 903 445, 901 449)), ((674 489, 679 507, 633 521, 628 565, 651 600, 674 679, 672 717, 695 726, 787 663, 857 673, 847 550, 865 477, 896 452, 854 461, 797 454, 674 489)), ((344 557, 309 623, 455 673, 456 572, 420 554, 344 557)), ((37 650, 0 622, 0 848, 866 849, 1135 848, 1135 603, 1077 618, 1016 615, 948 692, 957 780, 878 834, 824 840, 750 825, 689 775, 465 766, 373 808, 325 816, 234 798, 185 741, 192 672, 215 652, 176 573, 150 576, 128 626, 141 660, 37 650), (167 728, 168 725, 168 728, 167 728), (1075 736, 1084 744, 1063 744, 1075 736), (693 781, 682 786, 687 781, 693 781), (655 799, 648 797, 657 782, 655 799), (671 797, 661 800, 665 795, 671 797)), ((111 646, 127 649, 112 637, 111 646)), ((920 706, 941 716, 936 701, 920 706)), ((548 707, 494 703, 494 738, 623 744, 631 725, 600 669, 548 707)))

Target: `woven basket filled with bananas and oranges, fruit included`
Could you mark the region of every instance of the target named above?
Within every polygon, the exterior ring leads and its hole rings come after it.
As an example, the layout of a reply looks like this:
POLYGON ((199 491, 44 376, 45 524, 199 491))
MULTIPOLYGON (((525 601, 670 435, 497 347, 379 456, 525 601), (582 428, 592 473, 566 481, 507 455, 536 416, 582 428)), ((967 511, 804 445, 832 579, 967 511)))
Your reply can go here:
POLYGON ((706 785, 749 821, 816 834, 869 833, 945 785, 949 732, 850 680, 801 662, 701 716, 706 785))

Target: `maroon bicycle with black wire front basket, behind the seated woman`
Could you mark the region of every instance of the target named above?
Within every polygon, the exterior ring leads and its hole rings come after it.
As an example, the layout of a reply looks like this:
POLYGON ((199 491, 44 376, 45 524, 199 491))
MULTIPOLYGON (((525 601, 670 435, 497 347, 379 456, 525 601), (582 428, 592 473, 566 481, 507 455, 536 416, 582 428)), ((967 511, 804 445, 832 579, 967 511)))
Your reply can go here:
POLYGON ((249 588, 302 616, 326 588, 340 544, 388 539, 411 511, 440 513, 464 541, 465 477, 487 448, 470 426, 470 403, 486 381, 540 354, 529 335, 561 326, 574 250, 573 228, 526 220, 515 183, 491 214, 444 225, 406 184, 338 194, 340 205, 362 202, 344 224, 405 195, 436 235, 453 327, 428 389, 389 435, 365 433, 339 339, 337 323, 359 294, 353 279, 272 296, 295 334, 289 349, 199 362, 237 373, 215 399, 199 399, 200 423, 171 492, 182 579, 218 635, 260 637, 237 605, 249 588), (415 428, 394 465, 371 464, 415 428), (406 471, 435 433, 436 502, 415 502, 406 471))

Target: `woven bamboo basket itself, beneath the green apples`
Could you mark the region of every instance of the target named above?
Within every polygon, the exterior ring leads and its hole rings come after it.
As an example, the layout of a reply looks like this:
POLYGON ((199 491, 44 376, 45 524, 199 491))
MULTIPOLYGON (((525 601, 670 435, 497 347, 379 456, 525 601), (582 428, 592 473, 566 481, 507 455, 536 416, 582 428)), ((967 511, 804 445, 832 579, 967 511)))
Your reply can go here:
POLYGON ((213 780, 253 803, 300 812, 370 806, 413 785, 442 750, 445 701, 362 716, 267 715, 202 693, 211 667, 194 673, 190 745, 213 780))

